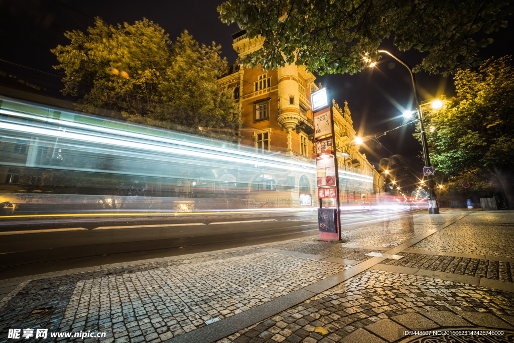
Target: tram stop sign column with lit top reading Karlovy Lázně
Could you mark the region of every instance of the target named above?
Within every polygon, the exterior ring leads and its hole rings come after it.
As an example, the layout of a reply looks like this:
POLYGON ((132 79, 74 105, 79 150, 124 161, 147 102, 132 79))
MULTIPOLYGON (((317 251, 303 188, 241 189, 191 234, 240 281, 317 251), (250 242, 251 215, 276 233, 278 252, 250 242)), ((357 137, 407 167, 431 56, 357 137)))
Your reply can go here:
POLYGON ((341 240, 339 172, 334 135, 334 116, 330 88, 310 95, 313 106, 316 178, 318 184, 318 228, 321 241, 341 240), (329 207, 323 202, 331 200, 329 207), (335 206, 335 208, 334 208, 335 206))

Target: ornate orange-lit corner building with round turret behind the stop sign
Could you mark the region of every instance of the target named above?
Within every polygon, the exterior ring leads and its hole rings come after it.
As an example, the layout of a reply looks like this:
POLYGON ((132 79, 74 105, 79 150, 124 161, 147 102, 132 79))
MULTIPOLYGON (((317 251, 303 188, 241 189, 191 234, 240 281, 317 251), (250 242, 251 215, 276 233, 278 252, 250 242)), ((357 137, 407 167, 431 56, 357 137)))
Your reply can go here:
MULTIPOLYGON (((258 50, 264 40, 249 40, 245 31, 233 34, 232 38, 232 46, 239 57, 258 50)), ((310 93, 318 90, 315 80, 316 77, 307 72, 304 66, 294 63, 270 70, 263 70, 260 66, 253 69, 238 65, 230 67, 218 82, 221 87, 230 89, 239 103, 243 121, 241 145, 254 147, 256 152, 281 153, 290 159, 314 164, 314 125, 310 93)), ((337 112, 337 148, 351 157, 345 156, 340 161, 340 168, 365 174, 363 180, 371 178, 369 183, 346 183, 346 189, 340 185, 342 201, 349 203, 350 198, 371 198, 375 192, 375 169, 365 155, 358 152, 358 148, 350 146, 355 138, 355 130, 347 104, 345 103, 344 109, 340 109, 335 102, 333 106, 334 113, 337 112)), ((280 178, 267 174, 261 168, 256 171, 253 179, 245 181, 249 185, 248 202, 257 207, 318 205, 316 178, 309 173, 290 173, 287 177, 280 178)))

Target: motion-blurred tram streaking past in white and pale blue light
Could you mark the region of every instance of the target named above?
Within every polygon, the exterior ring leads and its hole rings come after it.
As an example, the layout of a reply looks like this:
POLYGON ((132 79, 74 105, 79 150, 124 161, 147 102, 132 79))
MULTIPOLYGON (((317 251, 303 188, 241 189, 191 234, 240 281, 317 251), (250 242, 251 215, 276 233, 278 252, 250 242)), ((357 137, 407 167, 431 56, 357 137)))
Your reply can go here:
MULTIPOLYGON (((345 205, 373 175, 340 171, 345 205)), ((311 159, 0 97, 0 215, 318 207, 311 159)))

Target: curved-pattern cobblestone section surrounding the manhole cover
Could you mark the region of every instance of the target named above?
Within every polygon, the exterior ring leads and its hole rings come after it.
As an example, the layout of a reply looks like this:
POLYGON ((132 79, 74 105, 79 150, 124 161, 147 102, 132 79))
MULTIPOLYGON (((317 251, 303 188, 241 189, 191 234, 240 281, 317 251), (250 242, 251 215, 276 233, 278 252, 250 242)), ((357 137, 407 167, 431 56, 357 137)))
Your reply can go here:
POLYGON ((404 331, 472 328, 482 317, 508 331, 513 316, 509 292, 372 271, 218 342, 396 341, 404 331))

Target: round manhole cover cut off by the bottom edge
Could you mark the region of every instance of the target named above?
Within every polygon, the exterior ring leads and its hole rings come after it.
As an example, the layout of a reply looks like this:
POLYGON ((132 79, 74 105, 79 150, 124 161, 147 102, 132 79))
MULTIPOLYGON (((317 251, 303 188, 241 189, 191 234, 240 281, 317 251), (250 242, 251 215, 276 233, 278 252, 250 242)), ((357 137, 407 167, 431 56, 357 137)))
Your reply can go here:
MULTIPOLYGON (((416 332, 416 331, 411 331, 416 332)), ((398 343, 511 343, 514 331, 504 329, 452 328, 420 331, 398 343)))

